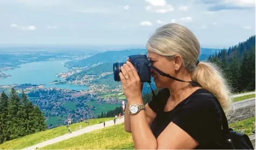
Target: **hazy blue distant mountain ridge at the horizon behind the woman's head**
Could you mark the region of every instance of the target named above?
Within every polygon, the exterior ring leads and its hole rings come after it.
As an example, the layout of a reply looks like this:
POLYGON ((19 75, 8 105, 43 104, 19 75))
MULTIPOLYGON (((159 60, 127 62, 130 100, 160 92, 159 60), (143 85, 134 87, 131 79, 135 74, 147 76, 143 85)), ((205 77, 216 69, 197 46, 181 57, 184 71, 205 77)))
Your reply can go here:
MULTIPOLYGON (((215 48, 201 48, 200 60, 206 60, 209 58, 209 55, 214 54, 216 51, 220 51, 221 49, 215 48)), ((114 63, 114 62, 125 62, 127 56, 136 55, 136 54, 147 54, 146 49, 127 49, 123 51, 107 51, 103 53, 97 53, 89 58, 77 60, 77 61, 69 61, 66 62, 69 68, 72 67, 86 67, 91 66, 96 63, 114 63)))

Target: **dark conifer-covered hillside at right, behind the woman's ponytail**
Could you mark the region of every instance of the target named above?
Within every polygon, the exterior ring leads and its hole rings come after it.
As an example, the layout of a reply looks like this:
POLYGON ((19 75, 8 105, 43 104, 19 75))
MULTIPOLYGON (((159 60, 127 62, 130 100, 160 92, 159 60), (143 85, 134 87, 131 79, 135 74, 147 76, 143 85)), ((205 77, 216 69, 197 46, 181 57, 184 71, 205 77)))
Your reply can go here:
POLYGON ((208 60, 221 67, 234 92, 255 90, 255 35, 208 60))

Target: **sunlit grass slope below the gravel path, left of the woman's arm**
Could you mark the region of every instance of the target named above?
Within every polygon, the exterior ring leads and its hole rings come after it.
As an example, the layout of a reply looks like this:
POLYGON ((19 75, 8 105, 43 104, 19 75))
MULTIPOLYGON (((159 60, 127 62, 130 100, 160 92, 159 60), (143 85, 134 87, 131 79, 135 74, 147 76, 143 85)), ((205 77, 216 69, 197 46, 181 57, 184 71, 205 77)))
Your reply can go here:
POLYGON ((105 127, 38 149, 134 149, 132 134, 124 124, 105 127))

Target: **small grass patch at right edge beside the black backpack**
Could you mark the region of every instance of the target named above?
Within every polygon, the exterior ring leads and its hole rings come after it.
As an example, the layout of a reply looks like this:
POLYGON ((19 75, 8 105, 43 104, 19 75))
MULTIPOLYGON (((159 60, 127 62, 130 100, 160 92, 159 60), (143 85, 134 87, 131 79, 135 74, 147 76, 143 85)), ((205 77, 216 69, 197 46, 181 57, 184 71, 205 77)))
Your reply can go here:
POLYGON ((234 129, 234 131, 237 131, 237 132, 239 131, 239 129, 242 129, 244 127, 245 134, 250 136, 250 135, 252 135, 253 129, 255 130, 255 126, 253 125, 253 122, 255 123, 255 117, 241 120, 240 122, 230 124, 229 127, 231 127, 231 128, 236 127, 234 129))

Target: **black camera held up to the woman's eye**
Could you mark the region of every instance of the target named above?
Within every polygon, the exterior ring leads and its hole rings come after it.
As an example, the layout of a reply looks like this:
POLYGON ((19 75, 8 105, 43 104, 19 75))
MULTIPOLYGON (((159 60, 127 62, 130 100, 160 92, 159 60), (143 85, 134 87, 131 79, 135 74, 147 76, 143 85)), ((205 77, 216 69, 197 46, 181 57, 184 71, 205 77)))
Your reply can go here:
MULTIPOLYGON (((146 62, 150 61, 147 59, 147 56, 145 54, 140 55, 130 55, 128 57, 130 59, 130 62, 136 69, 139 77, 140 82, 150 82, 151 81, 151 74, 150 74, 150 68, 146 65, 146 62)), ((113 63, 113 73, 114 73, 114 80, 120 81, 119 73, 122 72, 120 70, 120 67, 123 66, 124 63, 113 63)))

